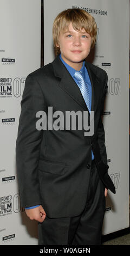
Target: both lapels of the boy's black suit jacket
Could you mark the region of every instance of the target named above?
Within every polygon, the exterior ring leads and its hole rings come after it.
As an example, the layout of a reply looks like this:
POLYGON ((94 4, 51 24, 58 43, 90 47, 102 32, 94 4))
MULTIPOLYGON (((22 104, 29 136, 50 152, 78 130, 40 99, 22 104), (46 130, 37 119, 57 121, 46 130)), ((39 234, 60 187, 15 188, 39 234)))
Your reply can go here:
MULTIPOLYGON (((97 105, 98 105, 98 100, 99 100, 99 95, 100 95, 100 84, 99 81, 96 78, 96 75, 90 69, 89 64, 86 62, 85 63, 90 82, 92 84, 92 107, 91 111, 95 111, 97 105)), ((86 106, 85 100, 83 99, 83 96, 80 92, 80 88, 77 86, 75 83, 74 79, 72 76, 69 74, 68 70, 64 66, 64 64, 61 62, 59 56, 56 57, 56 59, 53 62, 53 68, 54 68, 54 73, 56 77, 60 77, 61 81, 59 83, 59 86, 67 93, 69 94, 70 97, 72 97, 73 100, 75 100, 85 111, 88 111, 88 108, 86 106)), ((89 113, 89 111, 88 111, 89 113)))

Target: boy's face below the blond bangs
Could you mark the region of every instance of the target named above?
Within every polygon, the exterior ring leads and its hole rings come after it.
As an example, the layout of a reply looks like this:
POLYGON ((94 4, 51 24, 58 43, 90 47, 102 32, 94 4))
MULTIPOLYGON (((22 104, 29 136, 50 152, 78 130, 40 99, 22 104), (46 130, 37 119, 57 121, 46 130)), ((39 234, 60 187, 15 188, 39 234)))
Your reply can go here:
POLYGON ((88 56, 92 44, 91 36, 83 29, 78 32, 70 23, 68 31, 60 33, 59 44, 61 57, 72 68, 80 70, 83 60, 88 56))

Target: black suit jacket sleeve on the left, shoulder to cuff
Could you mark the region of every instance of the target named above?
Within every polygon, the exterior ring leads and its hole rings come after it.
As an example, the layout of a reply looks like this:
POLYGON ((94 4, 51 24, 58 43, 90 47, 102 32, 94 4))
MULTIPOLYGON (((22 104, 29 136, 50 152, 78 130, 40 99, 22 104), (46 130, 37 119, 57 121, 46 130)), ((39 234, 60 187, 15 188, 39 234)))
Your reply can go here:
POLYGON ((16 140, 16 167, 22 207, 41 204, 38 182, 38 161, 43 130, 36 129, 37 111, 46 111, 38 81, 28 75, 21 101, 16 140))

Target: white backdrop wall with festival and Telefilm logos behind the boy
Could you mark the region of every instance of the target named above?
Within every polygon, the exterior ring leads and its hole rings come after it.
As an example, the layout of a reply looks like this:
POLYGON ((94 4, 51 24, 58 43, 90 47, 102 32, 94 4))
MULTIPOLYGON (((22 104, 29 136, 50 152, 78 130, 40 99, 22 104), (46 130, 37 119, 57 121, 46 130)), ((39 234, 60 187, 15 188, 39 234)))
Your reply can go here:
MULTIPOLYGON (((44 65, 54 56, 52 26, 60 11, 92 14, 98 38, 88 61, 108 74, 103 112, 109 175, 103 234, 129 227, 129 0, 44 0, 44 65)), ((15 144, 27 75, 41 65, 41 0, 0 0, 0 245, 37 245, 37 223, 22 211, 15 144)))

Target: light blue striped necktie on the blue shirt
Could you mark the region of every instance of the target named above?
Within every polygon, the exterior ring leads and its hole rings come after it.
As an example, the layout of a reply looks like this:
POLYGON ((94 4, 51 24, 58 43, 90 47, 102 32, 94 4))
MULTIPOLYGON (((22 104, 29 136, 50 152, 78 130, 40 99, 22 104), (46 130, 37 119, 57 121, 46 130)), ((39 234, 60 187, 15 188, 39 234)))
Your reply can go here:
POLYGON ((88 110, 90 112, 89 90, 85 80, 83 79, 82 71, 75 71, 74 77, 77 79, 79 83, 83 99, 85 100, 88 110))

